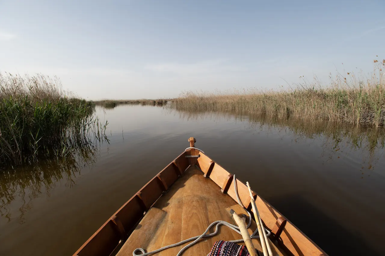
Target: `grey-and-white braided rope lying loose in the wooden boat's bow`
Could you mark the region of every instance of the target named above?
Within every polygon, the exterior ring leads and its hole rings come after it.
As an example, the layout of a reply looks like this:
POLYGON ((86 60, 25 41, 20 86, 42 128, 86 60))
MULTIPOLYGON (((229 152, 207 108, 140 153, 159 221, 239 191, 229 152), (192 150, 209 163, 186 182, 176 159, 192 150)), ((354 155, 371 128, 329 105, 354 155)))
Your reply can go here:
MULTIPOLYGON (((191 147, 191 148, 192 148, 192 147, 191 147)), ((188 150, 188 149, 189 149, 189 148, 186 148, 186 150, 188 150)), ((198 148, 194 148, 194 149, 199 150, 198 148)), ((201 150, 199 150, 199 151, 201 151, 201 150)), ((203 151, 201 151, 201 152, 204 153, 203 151)), ((236 195, 237 200, 238 200, 238 204, 244 208, 241 199, 239 199, 238 188, 237 188, 237 184, 236 184, 236 178, 235 178, 235 175, 234 175, 234 190, 235 190, 235 195, 236 195)), ((245 208, 244 208, 244 209, 245 209, 245 208)), ((247 213, 249 214, 249 223, 247 224, 246 228, 249 228, 249 226, 251 225, 251 214, 249 213, 248 210, 246 210, 246 211, 247 211, 247 213)), ((180 256, 180 255, 181 255, 187 248, 189 248, 190 246, 193 246, 194 244, 198 243, 198 241, 201 240, 202 238, 204 238, 204 237, 210 237, 210 236, 215 236, 215 235, 218 233, 219 226, 221 226, 221 225, 227 226, 227 227, 233 229, 236 233, 241 234, 241 231, 239 231, 239 228, 238 228, 237 226, 233 225, 233 224, 230 224, 230 223, 228 223, 228 222, 226 222, 226 221, 214 221, 213 223, 211 223, 211 224, 207 227, 206 231, 204 231, 204 233, 201 234, 200 236, 194 236, 194 237, 192 237, 192 238, 189 238, 189 239, 180 241, 179 243, 170 244, 170 245, 164 246, 164 247, 162 247, 162 248, 159 248, 159 249, 157 249, 157 250, 155 250, 155 251, 150 251, 150 252, 148 252, 148 253, 146 253, 146 252, 144 251, 144 249, 142 249, 142 248, 137 248, 137 249, 135 249, 135 250, 132 252, 132 255, 133 255, 133 256, 139 256, 139 255, 141 255, 141 256, 147 256, 147 255, 151 255, 151 254, 154 254, 154 253, 159 253, 160 251, 163 251, 163 250, 165 250, 165 249, 172 248, 172 247, 175 247, 175 246, 179 246, 179 245, 181 245, 181 244, 184 244, 184 243, 187 243, 187 242, 189 242, 189 241, 192 241, 191 243, 189 243, 189 244, 187 244, 186 246, 184 246, 184 247, 179 251, 178 254, 176 254, 176 256, 180 256), (215 226, 215 231, 214 231, 213 233, 206 234, 206 233, 209 231, 209 229, 210 229, 212 226, 214 226, 214 225, 216 225, 216 226, 215 226), (141 254, 136 254, 136 253, 139 252, 139 251, 141 252, 141 254)), ((269 236, 269 235, 271 234, 271 232, 268 231, 266 228, 265 228, 264 230, 267 231, 266 236, 269 236)), ((259 238, 259 235, 256 235, 256 233, 258 233, 258 228, 255 229, 254 233, 253 233, 250 237, 251 237, 251 238, 259 238)), ((230 241, 230 242, 233 242, 233 243, 241 243, 241 242, 243 242, 243 239, 232 240, 232 241, 230 241)))

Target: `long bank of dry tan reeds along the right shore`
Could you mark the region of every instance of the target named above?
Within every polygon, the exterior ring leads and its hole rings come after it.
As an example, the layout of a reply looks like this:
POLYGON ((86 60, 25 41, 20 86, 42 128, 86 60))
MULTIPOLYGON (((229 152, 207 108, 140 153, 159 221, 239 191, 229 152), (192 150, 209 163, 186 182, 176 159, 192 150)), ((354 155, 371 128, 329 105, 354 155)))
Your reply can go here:
POLYGON ((295 84, 289 90, 185 91, 169 105, 177 110, 223 111, 295 118, 328 120, 383 126, 385 121, 385 60, 374 61, 370 77, 353 72, 330 77, 331 85, 315 79, 295 84))

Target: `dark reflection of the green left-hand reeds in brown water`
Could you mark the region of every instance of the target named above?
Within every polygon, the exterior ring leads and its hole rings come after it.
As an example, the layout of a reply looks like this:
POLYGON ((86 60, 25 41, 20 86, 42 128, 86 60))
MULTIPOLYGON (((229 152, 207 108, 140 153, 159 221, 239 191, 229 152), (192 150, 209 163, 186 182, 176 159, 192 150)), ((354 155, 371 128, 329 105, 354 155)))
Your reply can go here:
POLYGON ((46 159, 35 165, 0 172, 0 216, 24 223, 24 215, 32 208, 34 199, 41 194, 49 197, 58 182, 65 187, 74 186, 82 168, 92 166, 100 146, 109 143, 105 134, 87 139, 88 143, 65 158, 46 159))

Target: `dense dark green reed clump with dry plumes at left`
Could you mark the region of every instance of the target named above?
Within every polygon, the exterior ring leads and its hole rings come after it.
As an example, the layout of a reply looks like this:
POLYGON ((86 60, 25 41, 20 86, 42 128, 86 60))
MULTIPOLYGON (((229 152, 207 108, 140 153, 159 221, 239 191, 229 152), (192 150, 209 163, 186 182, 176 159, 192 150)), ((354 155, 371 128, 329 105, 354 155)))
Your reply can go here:
POLYGON ((62 90, 58 78, 0 73, 0 163, 73 156, 107 138, 95 105, 62 90))

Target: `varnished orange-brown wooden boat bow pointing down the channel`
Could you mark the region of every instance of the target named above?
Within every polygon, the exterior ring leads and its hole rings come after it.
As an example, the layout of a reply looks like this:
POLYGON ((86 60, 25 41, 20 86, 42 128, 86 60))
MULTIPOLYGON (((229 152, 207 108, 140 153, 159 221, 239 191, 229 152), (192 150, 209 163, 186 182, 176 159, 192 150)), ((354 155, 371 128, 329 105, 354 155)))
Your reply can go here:
MULTIPOLYGON (((136 248, 147 251, 202 234, 213 220, 231 222, 230 209, 246 213, 231 188, 233 174, 194 147, 187 148, 121 206, 74 254, 74 256, 132 255, 136 248), (198 157, 199 156, 199 157, 198 157), (167 192, 167 193, 165 193, 167 192)), ((235 180, 239 200, 251 212, 248 187, 235 180)), ((288 221, 257 193, 251 195, 259 210, 274 255, 326 255, 313 241, 288 221)), ((252 221, 250 233, 256 229, 252 221), (252 230, 252 231, 251 231, 252 230)), ((207 255, 215 241, 241 239, 238 233, 222 228, 217 236, 188 248, 184 255, 207 255)), ((255 248, 261 249, 257 239, 255 248)), ((176 255, 181 247, 154 255, 176 255)))

